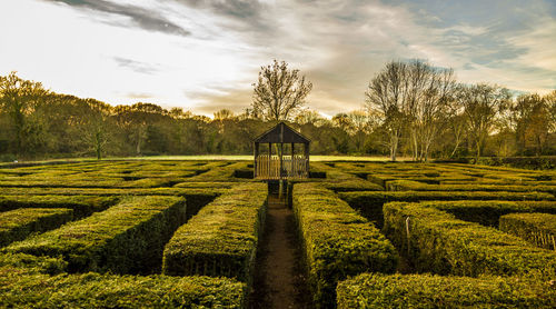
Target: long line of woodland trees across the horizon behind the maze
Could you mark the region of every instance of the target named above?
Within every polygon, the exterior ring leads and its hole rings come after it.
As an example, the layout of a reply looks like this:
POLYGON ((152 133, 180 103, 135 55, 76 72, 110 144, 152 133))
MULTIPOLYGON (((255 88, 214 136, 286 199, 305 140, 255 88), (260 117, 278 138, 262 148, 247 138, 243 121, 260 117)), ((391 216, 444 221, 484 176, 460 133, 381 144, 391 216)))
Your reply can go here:
MULTIPOLYGON (((475 156, 477 148, 481 156, 556 154, 556 91, 513 99, 497 86, 456 89, 459 97, 450 97, 433 117, 425 117, 426 111, 411 116, 404 108, 380 113, 368 100, 366 109, 331 119, 301 109, 288 121, 311 139, 314 154, 391 154, 393 130, 395 153, 416 159, 425 159, 418 154, 421 141, 427 158, 475 156), (504 97, 504 108, 479 103, 493 96, 504 97), (487 117, 471 119, 473 112, 487 117)), ((54 93, 10 73, 0 77, 0 158, 249 154, 251 140, 276 122, 259 114, 249 108, 239 114, 220 110, 211 119, 153 103, 113 107, 54 93)))

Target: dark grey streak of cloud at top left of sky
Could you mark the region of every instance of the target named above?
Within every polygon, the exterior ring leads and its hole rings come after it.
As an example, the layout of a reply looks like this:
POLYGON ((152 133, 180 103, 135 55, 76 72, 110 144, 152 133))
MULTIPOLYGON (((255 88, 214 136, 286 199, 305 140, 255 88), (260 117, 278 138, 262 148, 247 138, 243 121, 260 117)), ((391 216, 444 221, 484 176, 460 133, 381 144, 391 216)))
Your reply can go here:
POLYGON ((97 13, 108 13, 129 19, 130 22, 110 19, 106 22, 122 27, 139 27, 148 31, 157 31, 176 36, 189 36, 190 32, 171 22, 163 16, 152 10, 130 4, 118 4, 105 0, 44 0, 59 2, 80 10, 89 10, 97 13))

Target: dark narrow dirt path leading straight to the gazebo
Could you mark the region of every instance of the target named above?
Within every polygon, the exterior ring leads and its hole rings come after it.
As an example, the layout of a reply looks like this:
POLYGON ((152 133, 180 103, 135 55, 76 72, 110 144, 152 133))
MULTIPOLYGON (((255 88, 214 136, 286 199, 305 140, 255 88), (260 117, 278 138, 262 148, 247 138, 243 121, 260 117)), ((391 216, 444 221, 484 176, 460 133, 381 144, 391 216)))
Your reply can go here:
POLYGON ((301 252, 291 209, 269 197, 250 308, 312 308, 301 252))

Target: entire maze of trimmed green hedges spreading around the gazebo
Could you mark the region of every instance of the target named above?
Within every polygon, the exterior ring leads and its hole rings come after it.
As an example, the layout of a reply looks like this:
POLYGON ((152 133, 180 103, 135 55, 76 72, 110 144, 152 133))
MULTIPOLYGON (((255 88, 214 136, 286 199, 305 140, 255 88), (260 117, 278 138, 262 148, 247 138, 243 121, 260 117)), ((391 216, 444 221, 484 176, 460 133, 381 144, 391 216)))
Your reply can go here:
MULTIPOLYGON (((0 307, 267 307, 251 158, 0 168, 0 307)), ((555 171, 312 159, 285 190, 309 307, 556 305, 555 171)))

